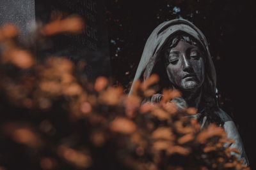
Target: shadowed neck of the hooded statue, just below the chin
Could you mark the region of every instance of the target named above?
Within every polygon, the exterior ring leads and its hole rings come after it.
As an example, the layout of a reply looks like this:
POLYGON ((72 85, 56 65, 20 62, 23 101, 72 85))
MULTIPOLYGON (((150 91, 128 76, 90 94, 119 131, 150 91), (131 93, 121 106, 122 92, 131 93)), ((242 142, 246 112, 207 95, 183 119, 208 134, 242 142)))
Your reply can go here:
POLYGON ((182 92, 182 97, 186 101, 188 107, 196 108, 196 110, 200 111, 200 101, 202 99, 202 88, 198 88, 194 92, 184 91, 182 92))

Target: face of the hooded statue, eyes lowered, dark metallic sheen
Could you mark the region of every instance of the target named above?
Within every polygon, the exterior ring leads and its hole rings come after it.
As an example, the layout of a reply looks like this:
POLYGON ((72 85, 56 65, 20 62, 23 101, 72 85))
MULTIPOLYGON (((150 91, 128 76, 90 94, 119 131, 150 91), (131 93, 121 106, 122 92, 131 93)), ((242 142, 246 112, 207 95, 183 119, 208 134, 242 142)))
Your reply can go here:
POLYGON ((168 53, 169 80, 181 91, 195 91, 204 82, 205 67, 198 46, 179 41, 168 53))

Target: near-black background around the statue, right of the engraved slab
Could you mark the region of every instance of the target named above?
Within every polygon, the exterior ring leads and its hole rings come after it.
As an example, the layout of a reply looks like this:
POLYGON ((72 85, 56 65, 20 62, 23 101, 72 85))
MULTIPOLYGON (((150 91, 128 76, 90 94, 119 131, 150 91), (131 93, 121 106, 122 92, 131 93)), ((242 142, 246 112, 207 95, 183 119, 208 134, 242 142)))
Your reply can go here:
POLYGON ((157 25, 182 17, 204 32, 216 67, 221 108, 234 119, 256 169, 255 1, 108 0, 106 8, 113 76, 125 92, 157 25))

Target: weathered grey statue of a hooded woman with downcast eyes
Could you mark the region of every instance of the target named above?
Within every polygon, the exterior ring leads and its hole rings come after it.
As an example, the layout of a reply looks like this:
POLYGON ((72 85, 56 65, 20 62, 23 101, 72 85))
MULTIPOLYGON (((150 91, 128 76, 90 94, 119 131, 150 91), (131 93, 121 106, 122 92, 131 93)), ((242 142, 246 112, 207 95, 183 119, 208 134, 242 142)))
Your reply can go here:
MULTIPOLYGON (((194 107, 201 127, 217 124, 225 129, 227 137, 236 143, 241 154, 236 154, 248 166, 243 143, 232 118, 218 106, 216 96, 216 71, 204 34, 191 22, 175 19, 163 22, 147 39, 140 64, 134 77, 144 81, 151 74, 159 75, 156 94, 147 99, 159 102, 163 89, 178 89, 182 97, 172 99, 179 108, 194 107)), ((134 84, 132 84, 130 94, 134 84)))

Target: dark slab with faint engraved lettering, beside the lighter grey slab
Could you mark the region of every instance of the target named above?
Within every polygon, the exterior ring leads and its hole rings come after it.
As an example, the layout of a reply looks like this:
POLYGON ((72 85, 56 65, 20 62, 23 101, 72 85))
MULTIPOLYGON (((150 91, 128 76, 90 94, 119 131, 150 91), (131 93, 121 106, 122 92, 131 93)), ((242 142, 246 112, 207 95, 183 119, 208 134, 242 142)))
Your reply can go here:
POLYGON ((49 22, 52 11, 63 11, 67 15, 80 15, 86 25, 82 34, 54 36, 51 39, 53 46, 46 52, 66 56, 74 62, 85 60, 85 72, 88 78, 111 75, 103 0, 36 0, 35 2, 37 20, 49 22))

